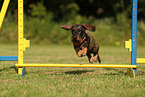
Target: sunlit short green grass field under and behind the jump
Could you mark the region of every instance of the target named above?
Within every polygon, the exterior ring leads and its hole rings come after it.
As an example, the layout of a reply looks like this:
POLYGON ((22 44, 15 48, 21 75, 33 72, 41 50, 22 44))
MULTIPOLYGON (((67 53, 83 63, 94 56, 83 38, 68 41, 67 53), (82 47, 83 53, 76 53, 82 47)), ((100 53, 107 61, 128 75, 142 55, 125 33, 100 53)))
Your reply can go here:
MULTIPOLYGON (((0 55, 16 55, 17 45, 0 44, 0 55)), ((100 46, 102 63, 130 64, 123 47, 100 46)), ((145 57, 145 47, 138 48, 145 57)), ((71 45, 31 45, 25 63, 88 63, 78 58, 71 45)), ((0 62, 0 97, 145 97, 145 64, 138 64, 137 77, 126 69, 111 68, 26 68, 22 78, 16 62, 0 62)))

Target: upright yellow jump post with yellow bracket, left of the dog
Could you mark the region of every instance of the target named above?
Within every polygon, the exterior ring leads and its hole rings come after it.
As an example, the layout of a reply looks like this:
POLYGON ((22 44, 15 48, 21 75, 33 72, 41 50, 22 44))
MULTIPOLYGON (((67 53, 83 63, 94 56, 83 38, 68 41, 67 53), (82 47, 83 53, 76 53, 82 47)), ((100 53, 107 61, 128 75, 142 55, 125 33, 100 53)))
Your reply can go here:
MULTIPOLYGON (((18 0, 18 64, 24 63, 24 51, 30 47, 30 41, 24 38, 24 4, 23 0, 18 0)), ((18 74, 22 75, 25 67, 18 67, 18 74)))

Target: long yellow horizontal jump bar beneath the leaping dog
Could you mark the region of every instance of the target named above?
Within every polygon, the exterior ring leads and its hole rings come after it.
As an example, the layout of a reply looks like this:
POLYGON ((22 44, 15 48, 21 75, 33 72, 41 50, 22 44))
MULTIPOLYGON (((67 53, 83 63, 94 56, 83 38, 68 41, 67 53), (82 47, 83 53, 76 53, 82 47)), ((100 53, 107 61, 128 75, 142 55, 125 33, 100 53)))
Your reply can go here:
POLYGON ((16 67, 100 67, 100 68, 137 68, 136 65, 125 64, 16 64, 16 67))

